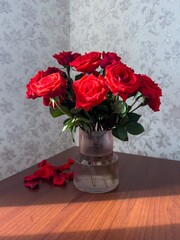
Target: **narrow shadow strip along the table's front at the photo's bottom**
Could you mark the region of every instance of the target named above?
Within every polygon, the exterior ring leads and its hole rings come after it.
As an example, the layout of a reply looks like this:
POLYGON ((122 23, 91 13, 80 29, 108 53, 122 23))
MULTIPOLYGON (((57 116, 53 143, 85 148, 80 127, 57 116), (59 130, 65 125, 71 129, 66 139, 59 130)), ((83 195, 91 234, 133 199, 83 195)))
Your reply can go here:
MULTIPOLYGON (((61 228, 61 226, 59 226, 61 228)), ((105 229, 105 230, 90 230, 90 231, 68 231, 65 229, 59 233, 44 233, 44 234, 31 234, 31 235, 1 235, 0 240, 70 240, 70 239, 99 239, 99 240, 179 240, 180 239, 180 224, 160 225, 160 226, 147 226, 147 227, 133 227, 121 229, 105 229)))

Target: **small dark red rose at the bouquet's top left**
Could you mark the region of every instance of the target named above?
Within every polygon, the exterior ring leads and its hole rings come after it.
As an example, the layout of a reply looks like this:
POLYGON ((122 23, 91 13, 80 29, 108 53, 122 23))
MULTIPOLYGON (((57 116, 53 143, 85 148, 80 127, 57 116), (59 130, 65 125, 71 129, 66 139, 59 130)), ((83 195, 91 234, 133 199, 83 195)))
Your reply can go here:
POLYGON ((59 54, 54 54, 53 57, 58 61, 59 64, 66 67, 70 62, 74 61, 77 57, 81 56, 79 53, 70 52, 60 52, 59 54))

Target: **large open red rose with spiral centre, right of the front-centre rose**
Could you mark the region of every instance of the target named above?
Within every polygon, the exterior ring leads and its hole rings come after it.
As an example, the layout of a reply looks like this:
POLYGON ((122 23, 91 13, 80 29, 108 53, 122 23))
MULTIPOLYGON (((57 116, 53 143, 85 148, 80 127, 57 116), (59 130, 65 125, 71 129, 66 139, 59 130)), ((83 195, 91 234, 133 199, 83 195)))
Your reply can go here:
POLYGON ((113 94, 118 94, 124 101, 139 88, 139 78, 123 63, 106 67, 106 79, 113 94))

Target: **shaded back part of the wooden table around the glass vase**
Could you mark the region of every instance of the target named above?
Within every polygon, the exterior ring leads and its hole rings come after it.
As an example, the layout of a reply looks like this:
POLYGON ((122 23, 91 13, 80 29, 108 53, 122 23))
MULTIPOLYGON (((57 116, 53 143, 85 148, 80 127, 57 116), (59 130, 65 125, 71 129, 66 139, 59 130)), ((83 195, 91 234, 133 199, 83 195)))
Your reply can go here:
POLYGON ((39 189, 29 190, 24 187, 23 178, 32 174, 37 169, 35 166, 0 183, 0 206, 180 195, 180 162, 130 154, 119 154, 119 159, 119 187, 110 193, 83 193, 72 182, 64 187, 42 182, 39 189))

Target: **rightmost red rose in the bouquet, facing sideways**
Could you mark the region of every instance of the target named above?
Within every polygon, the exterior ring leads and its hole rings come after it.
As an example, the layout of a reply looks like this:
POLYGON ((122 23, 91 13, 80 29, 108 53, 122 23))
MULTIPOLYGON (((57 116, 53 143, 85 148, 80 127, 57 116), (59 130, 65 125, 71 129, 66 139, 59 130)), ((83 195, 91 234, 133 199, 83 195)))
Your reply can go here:
POLYGON ((137 74, 136 76, 140 79, 139 91, 146 97, 149 107, 154 112, 159 111, 161 104, 160 97, 162 96, 160 87, 146 75, 137 74))

